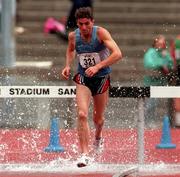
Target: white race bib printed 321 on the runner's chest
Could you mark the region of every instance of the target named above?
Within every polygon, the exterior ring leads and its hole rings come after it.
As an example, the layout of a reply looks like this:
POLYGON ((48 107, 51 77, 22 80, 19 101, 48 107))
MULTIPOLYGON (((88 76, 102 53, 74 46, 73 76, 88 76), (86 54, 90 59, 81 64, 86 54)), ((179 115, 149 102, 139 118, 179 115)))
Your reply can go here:
POLYGON ((82 53, 78 54, 77 56, 79 58, 79 63, 83 68, 95 66, 101 61, 98 53, 82 53))

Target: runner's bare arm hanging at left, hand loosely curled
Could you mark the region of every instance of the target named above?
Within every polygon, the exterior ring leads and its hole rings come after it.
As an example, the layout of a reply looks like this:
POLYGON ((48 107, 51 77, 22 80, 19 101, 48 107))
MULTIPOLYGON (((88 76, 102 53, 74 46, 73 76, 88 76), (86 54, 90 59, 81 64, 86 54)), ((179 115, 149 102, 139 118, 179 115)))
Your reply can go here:
POLYGON ((69 38, 68 38, 68 47, 66 50, 66 66, 62 70, 62 76, 65 79, 69 78, 70 75, 70 69, 71 69, 71 63, 73 59, 75 58, 75 32, 70 32, 69 33, 69 38))

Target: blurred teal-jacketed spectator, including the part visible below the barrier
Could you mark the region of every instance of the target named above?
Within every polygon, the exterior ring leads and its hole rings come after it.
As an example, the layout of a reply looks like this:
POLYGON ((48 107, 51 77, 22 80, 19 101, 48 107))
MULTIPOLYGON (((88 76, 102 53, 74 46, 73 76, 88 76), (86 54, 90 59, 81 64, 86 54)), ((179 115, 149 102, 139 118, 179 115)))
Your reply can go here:
MULTIPOLYGON (((163 35, 155 37, 152 47, 145 52, 144 68, 146 70, 144 76, 145 86, 169 85, 170 73, 173 70, 173 60, 167 50, 166 39, 163 35)), ((145 122, 151 128, 157 124, 155 111, 157 106, 158 100, 156 98, 146 100, 145 122)))

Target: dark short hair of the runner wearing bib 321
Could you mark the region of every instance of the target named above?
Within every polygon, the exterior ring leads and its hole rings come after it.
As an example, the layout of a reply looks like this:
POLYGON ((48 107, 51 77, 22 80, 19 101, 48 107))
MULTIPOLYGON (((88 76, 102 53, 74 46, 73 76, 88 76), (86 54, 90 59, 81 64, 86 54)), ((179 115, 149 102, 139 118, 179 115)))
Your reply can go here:
POLYGON ((93 19, 92 9, 90 7, 81 7, 77 9, 75 13, 75 18, 76 20, 80 18, 88 18, 92 20, 93 19))

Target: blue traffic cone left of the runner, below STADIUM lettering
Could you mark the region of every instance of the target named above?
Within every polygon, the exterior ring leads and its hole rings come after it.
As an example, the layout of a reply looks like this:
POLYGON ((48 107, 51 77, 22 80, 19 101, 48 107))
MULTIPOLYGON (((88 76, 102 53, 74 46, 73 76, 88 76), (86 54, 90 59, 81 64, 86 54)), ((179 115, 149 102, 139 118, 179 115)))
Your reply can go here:
POLYGON ((59 142, 59 124, 58 118, 51 119, 51 128, 50 128, 50 142, 49 146, 44 150, 45 152, 63 152, 64 148, 60 145, 59 142))

